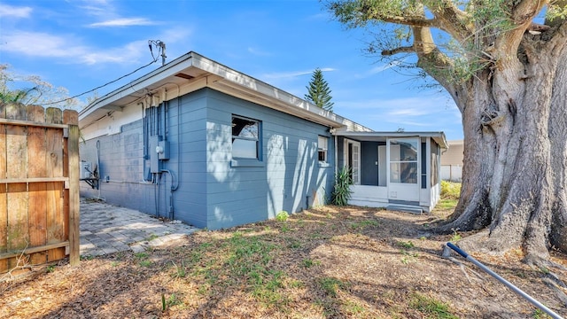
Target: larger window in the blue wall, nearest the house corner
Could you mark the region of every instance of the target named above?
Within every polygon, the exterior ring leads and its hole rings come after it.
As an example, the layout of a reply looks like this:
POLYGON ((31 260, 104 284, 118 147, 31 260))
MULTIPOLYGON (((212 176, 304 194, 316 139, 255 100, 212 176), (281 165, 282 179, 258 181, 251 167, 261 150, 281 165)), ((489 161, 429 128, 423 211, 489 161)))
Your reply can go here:
POLYGON ((232 158, 260 159, 260 121, 232 115, 232 158))

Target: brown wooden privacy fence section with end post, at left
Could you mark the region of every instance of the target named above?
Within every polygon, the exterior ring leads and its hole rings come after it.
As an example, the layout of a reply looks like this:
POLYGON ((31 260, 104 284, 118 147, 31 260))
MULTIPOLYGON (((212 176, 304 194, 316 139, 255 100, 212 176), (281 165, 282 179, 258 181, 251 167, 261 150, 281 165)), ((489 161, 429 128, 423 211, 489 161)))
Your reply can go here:
POLYGON ((0 102, 0 273, 79 244, 78 113, 0 102))

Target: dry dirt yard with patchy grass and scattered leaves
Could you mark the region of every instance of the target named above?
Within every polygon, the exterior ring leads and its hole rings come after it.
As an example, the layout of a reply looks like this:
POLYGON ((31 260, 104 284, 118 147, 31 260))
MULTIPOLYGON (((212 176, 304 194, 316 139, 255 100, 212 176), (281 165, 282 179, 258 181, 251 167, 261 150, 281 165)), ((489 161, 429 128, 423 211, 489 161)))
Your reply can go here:
MULTIPOLYGON (((442 245, 435 214, 324 206, 287 220, 198 231, 145 253, 115 253, 2 276, 2 318, 544 318, 541 311, 442 245)), ((522 253, 475 255, 567 316, 522 253)), ((567 257, 553 253, 567 266, 567 257)))

